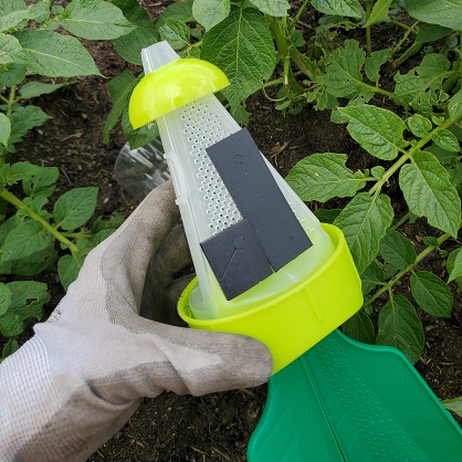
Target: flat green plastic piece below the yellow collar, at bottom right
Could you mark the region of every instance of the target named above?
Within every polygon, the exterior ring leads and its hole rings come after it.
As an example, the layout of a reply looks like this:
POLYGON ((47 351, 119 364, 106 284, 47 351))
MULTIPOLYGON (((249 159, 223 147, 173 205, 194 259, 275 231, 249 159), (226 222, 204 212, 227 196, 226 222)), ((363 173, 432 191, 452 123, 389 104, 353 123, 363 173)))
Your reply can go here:
POLYGON ((460 462, 462 431, 398 349, 338 329, 270 379, 249 462, 460 462))

